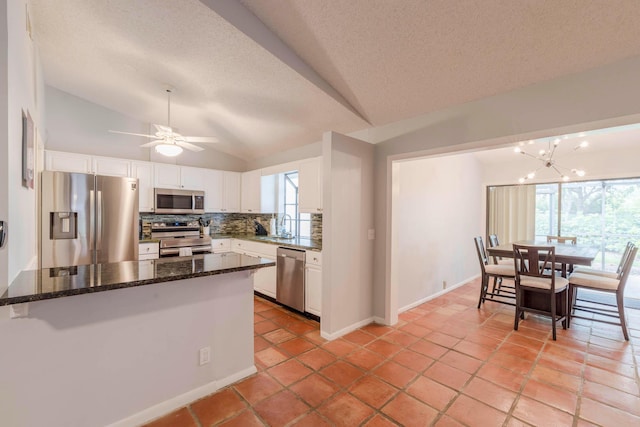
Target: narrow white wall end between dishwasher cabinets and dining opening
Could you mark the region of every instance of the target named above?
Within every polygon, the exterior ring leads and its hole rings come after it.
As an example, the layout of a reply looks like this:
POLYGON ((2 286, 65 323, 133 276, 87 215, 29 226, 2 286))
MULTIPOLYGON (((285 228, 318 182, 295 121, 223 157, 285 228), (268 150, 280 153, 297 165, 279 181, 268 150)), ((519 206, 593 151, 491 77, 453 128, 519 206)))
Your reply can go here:
POLYGON ((323 137, 322 321, 333 339, 372 318, 373 146, 323 137))

